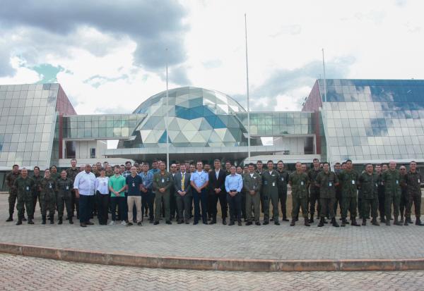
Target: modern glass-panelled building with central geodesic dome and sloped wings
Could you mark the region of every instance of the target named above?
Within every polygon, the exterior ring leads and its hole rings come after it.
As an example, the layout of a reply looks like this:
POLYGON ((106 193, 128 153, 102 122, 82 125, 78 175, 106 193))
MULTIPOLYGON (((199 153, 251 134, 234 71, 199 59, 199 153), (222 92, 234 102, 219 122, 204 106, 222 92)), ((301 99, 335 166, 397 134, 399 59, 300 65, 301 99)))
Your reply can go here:
MULTIPOLYGON (((165 159, 166 137, 171 161, 249 161, 247 111, 210 89, 170 89, 131 114, 83 116, 59 84, 1 85, 0 112, 0 185, 15 163, 165 159)), ((302 111, 250 112, 250 161, 424 162, 423 126, 424 80, 317 80, 302 111)))

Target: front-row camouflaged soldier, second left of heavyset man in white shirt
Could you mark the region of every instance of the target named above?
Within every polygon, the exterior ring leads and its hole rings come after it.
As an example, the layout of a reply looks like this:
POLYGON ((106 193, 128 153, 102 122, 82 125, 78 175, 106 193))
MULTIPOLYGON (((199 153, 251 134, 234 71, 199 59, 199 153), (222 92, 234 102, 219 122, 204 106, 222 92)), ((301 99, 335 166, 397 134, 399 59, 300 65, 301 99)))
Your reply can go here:
POLYGON ((42 224, 46 224, 47 210, 49 211, 50 224, 54 223, 54 210, 56 207, 56 180, 50 177, 50 170, 46 169, 45 178, 41 180, 40 204, 42 224))

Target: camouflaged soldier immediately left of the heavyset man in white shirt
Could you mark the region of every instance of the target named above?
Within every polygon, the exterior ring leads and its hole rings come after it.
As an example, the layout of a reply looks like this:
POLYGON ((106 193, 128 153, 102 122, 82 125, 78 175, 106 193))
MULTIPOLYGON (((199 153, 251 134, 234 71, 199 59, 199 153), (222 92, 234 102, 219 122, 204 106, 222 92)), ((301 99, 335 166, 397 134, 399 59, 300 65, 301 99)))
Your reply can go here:
POLYGON ((64 206, 66 205, 66 214, 68 215, 69 223, 73 224, 72 217, 72 189, 73 181, 66 177, 66 171, 60 173, 60 178, 57 180, 57 212, 59 215, 59 223, 62 224, 64 216, 64 206))

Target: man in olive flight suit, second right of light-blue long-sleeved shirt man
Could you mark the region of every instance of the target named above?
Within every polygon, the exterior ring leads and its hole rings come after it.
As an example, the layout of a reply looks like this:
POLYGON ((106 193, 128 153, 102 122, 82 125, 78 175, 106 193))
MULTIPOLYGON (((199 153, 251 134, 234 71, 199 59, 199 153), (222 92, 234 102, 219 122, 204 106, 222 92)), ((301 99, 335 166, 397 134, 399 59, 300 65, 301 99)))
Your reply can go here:
POLYGON ((278 183, 280 175, 278 171, 273 169, 273 161, 266 163, 267 171, 262 173, 262 193, 264 197, 264 225, 269 224, 269 202, 272 202, 273 222, 280 225, 278 222, 278 183))

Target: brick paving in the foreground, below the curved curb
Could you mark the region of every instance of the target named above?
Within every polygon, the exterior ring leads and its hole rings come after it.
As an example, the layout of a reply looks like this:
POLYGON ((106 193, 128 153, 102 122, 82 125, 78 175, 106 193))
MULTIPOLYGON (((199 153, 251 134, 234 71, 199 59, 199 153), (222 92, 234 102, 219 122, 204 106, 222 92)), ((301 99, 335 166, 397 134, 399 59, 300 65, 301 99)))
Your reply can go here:
POLYGON ((132 268, 0 254, 0 290, 424 290, 424 271, 228 272, 132 268))

